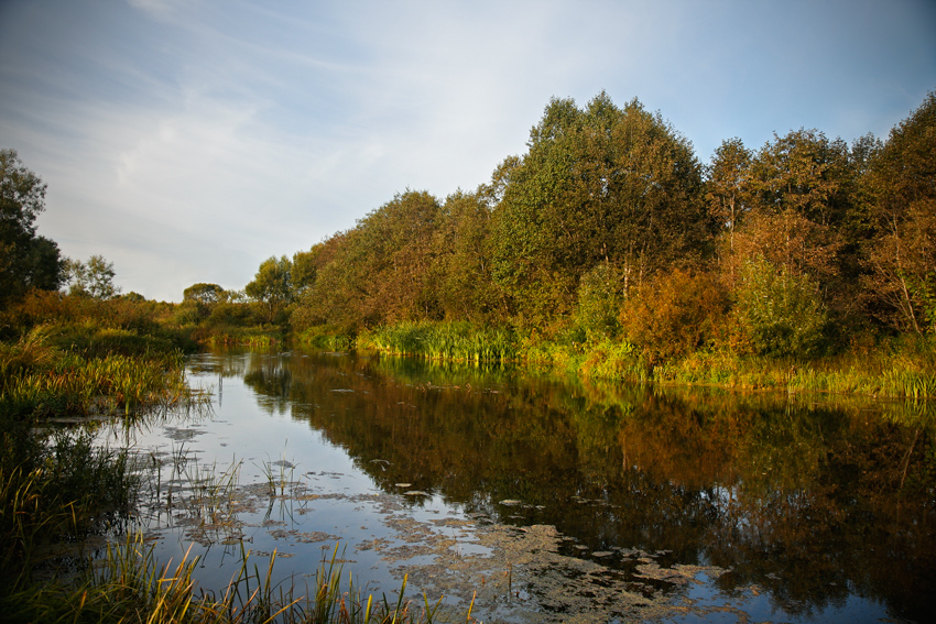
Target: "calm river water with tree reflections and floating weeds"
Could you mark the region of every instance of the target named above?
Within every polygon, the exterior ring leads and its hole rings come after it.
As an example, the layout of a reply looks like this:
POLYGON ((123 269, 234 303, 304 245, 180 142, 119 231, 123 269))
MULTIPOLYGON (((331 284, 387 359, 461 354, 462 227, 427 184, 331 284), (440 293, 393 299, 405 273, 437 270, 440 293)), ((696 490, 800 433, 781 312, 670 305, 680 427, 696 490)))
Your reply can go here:
POLYGON ((189 361, 211 408, 102 434, 140 522, 221 589, 241 548, 485 622, 932 621, 933 406, 647 390, 347 353, 189 361), (193 546, 194 545, 194 546, 193 546))

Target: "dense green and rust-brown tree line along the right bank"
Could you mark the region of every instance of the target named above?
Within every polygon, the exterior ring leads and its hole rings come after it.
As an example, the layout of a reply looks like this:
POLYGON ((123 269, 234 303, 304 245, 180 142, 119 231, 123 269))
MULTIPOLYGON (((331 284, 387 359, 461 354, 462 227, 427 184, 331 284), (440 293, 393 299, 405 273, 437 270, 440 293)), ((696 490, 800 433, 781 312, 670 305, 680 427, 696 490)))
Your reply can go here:
POLYGON ((553 99, 527 150, 444 200, 405 190, 247 295, 297 331, 467 320, 808 355, 936 331, 936 94, 885 141, 799 129, 708 164, 660 113, 553 99))

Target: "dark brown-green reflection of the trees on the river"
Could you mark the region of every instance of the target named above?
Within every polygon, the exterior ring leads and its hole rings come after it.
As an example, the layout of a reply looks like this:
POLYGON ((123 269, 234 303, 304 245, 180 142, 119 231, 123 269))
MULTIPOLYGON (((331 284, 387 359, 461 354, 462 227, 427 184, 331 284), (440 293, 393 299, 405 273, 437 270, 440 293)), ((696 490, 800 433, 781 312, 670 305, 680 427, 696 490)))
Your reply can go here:
POLYGON ((406 482, 498 522, 553 525, 588 551, 726 568, 722 591, 755 584, 791 614, 862 595, 928 617, 936 406, 320 353, 224 374, 388 492, 406 482))

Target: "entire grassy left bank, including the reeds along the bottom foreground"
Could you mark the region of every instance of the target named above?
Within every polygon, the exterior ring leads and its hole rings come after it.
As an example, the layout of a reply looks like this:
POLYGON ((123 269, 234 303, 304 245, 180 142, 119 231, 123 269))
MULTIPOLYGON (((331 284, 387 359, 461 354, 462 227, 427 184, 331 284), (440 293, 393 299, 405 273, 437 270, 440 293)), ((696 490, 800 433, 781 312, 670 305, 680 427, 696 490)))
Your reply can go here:
POLYGON ((341 587, 335 558, 323 563, 312 588, 274 587, 275 557, 261 569, 242 551, 240 572, 221 592, 198 588, 197 557, 156 561, 132 536, 152 467, 127 450, 95 446, 96 420, 191 406, 182 349, 193 339, 269 346, 282 335, 217 327, 199 336, 197 328, 140 314, 148 304, 40 298, 6 313, 0 341, 0 621, 438 620, 438 605, 378 601, 341 587), (128 529, 126 544, 88 558, 96 538, 128 529))

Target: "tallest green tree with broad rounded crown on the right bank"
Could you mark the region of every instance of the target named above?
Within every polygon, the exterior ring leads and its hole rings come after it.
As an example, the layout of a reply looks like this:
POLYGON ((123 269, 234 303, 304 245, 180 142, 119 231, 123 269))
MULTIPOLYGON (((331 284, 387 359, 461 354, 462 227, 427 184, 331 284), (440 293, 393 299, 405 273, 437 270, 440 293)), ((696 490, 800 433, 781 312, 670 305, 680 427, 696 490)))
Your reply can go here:
POLYGON ((522 317, 570 313, 599 262, 627 296, 710 234, 692 145, 638 100, 618 108, 602 92, 579 110, 554 99, 527 145, 492 231, 494 278, 522 317))

